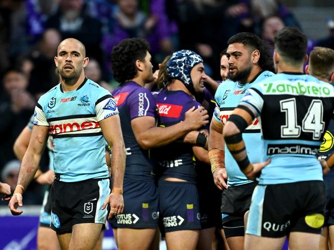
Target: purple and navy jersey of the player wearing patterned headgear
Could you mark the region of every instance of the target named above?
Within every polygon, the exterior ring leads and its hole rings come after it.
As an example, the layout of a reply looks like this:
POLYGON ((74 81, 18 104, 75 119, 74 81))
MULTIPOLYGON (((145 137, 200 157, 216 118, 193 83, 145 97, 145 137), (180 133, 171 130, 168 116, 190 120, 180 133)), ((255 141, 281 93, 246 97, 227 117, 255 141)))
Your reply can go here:
MULTIPOLYGON (((159 126, 168 127, 185 119, 185 112, 191 107, 202 105, 192 99, 182 90, 162 90, 155 96, 159 108, 159 126)), ((196 181, 194 153, 192 146, 174 141, 164 147, 154 149, 154 158, 159 167, 161 179, 168 177, 179 178, 186 181, 196 181)))

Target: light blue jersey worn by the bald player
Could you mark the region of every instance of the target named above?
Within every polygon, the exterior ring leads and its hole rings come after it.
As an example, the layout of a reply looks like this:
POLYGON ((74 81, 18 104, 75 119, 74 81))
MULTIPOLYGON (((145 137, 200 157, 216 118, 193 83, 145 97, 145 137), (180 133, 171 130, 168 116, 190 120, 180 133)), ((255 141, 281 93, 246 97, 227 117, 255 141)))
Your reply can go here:
POLYGON ((110 92, 89 79, 77 90, 64 92, 58 84, 42 95, 33 123, 49 126, 54 171, 60 181, 108 178, 106 142, 99 121, 115 114, 118 109, 110 92))

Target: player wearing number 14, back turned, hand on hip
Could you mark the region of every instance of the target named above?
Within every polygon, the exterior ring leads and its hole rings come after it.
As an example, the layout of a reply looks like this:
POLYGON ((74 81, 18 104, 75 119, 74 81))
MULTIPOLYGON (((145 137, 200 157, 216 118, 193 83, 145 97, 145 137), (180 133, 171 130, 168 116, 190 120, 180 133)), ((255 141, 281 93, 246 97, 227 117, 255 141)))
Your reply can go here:
POLYGON ((325 192, 317 158, 333 118, 334 87, 303 74, 306 48, 306 37, 297 28, 278 31, 274 50, 277 74, 247 90, 223 130, 242 172, 251 180, 260 173, 245 249, 278 250, 286 236, 290 249, 319 246, 325 192), (258 147, 262 159, 252 164, 241 133, 255 118, 261 124, 263 139, 258 147))

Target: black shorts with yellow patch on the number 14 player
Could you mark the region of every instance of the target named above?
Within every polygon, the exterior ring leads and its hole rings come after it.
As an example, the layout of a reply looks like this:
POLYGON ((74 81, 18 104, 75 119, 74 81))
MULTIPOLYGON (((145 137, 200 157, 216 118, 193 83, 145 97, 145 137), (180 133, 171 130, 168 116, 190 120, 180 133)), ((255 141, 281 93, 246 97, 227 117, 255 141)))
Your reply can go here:
POLYGON ((290 232, 320 234, 325 200, 323 181, 257 185, 246 234, 270 238, 290 232))

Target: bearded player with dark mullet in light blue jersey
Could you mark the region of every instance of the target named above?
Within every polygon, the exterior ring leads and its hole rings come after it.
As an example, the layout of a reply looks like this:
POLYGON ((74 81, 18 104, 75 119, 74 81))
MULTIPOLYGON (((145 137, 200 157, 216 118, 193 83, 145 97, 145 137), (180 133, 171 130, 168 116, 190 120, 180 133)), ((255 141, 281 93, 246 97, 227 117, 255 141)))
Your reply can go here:
MULTIPOLYGON (((252 33, 238 33, 232 36, 228 40, 227 55, 230 80, 221 83, 215 95, 217 106, 210 125, 209 156, 215 184, 223 190, 222 228, 227 243, 233 250, 243 248, 244 215, 249 210, 255 183, 245 177, 230 151, 225 150, 222 129, 244 92, 255 83, 274 74, 270 71, 273 70, 270 49, 252 33)), ((259 121, 254 119, 242 136, 249 145, 252 160, 259 161, 259 121)))

